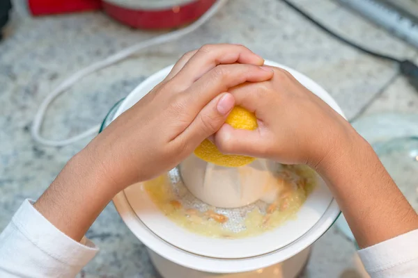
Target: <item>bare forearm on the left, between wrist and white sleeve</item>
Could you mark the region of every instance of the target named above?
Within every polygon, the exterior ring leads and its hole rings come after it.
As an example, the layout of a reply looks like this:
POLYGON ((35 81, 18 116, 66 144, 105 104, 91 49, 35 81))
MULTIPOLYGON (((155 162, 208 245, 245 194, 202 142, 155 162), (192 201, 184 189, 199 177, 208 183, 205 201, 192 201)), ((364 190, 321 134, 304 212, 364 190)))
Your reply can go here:
POLYGON ((34 204, 49 222, 74 240, 81 240, 117 193, 89 149, 74 156, 34 204))

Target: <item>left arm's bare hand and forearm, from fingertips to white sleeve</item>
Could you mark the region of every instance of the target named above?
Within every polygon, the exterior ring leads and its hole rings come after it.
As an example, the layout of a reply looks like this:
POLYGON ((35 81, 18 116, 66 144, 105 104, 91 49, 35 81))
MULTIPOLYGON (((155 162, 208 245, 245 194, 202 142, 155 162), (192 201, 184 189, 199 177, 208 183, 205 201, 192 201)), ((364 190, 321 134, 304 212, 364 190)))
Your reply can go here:
POLYGON ((224 124, 235 105, 229 88, 272 78, 263 63, 240 45, 185 54, 164 81, 65 165, 35 208, 81 240, 116 193, 170 170, 224 124))

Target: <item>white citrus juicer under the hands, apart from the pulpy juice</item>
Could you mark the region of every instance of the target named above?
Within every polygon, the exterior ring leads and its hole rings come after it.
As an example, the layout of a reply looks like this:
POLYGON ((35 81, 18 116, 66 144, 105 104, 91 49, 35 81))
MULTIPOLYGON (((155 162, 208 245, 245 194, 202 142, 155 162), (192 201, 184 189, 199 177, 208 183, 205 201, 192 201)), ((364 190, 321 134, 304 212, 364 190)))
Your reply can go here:
MULTIPOLYGON (((343 115, 334 99, 303 74, 277 63, 306 88, 343 115)), ((157 72, 120 101, 102 124, 139 101, 170 72, 157 72)), ((227 215, 225 229, 245 229, 235 220, 245 218, 250 208, 269 203, 277 188, 270 184, 281 166, 256 160, 238 168, 221 167, 201 161, 192 154, 165 177, 182 204, 201 211, 227 215), (260 184, 263 183, 263 186, 260 184)), ((325 182, 315 174, 316 187, 295 213, 295 217, 261 234, 242 238, 213 237, 194 233, 170 220, 153 202, 145 183, 136 183, 114 197, 114 205, 127 227, 148 248, 150 259, 164 278, 273 277, 293 278, 309 258, 309 248, 333 224, 340 211, 325 182)))

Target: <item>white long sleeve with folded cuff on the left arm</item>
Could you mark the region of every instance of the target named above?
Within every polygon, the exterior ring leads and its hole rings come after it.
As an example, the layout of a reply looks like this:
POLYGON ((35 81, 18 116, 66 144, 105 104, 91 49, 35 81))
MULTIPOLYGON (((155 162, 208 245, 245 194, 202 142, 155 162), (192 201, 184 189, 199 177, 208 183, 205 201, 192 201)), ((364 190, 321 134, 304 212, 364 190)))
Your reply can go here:
POLYGON ((75 277, 98 249, 56 229, 26 200, 0 234, 0 277, 75 277))

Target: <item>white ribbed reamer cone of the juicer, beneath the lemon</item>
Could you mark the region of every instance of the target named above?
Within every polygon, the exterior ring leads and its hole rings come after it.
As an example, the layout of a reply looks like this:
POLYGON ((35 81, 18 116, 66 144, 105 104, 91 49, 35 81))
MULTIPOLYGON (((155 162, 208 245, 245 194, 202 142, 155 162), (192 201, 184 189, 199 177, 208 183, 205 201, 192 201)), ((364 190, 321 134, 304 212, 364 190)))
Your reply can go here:
POLYGON ((194 154, 179 165, 180 177, 190 193, 202 202, 219 208, 238 208, 263 200, 274 202, 279 190, 274 172, 279 167, 257 159, 241 167, 208 163, 194 154))

